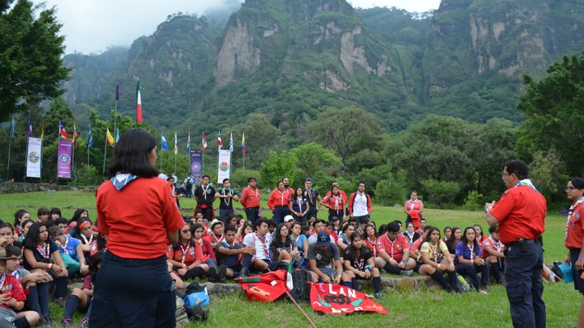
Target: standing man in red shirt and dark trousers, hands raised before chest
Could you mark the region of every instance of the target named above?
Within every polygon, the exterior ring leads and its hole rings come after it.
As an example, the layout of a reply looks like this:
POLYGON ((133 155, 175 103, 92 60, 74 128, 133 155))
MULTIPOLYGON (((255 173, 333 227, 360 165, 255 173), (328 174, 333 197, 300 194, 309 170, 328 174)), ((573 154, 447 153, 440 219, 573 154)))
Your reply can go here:
POLYGON ((547 204, 528 179, 528 166, 510 160, 503 169, 508 188, 495 203, 485 204, 489 226, 499 224, 499 239, 505 244, 505 282, 514 327, 545 327, 543 248, 547 204))

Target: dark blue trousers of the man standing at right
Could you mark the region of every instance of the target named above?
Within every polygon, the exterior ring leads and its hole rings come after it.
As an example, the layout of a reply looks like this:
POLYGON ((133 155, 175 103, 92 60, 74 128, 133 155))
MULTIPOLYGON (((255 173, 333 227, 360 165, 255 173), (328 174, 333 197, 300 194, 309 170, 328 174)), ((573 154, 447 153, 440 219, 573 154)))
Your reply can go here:
POLYGON ((505 282, 513 327, 544 328, 545 303, 541 299, 543 285, 543 249, 539 243, 528 243, 521 252, 519 245, 505 250, 505 282))

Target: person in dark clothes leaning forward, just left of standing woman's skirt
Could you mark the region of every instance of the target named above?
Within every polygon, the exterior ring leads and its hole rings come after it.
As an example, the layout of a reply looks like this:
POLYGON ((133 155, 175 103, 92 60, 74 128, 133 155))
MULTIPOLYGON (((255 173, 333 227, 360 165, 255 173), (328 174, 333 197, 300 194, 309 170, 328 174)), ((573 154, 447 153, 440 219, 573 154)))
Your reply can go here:
POLYGON ((91 301, 93 298, 94 282, 97 274, 97 270, 101 267, 101 261, 103 261, 103 255, 105 251, 101 250, 94 254, 90 262, 90 272, 91 274, 85 276, 83 280, 83 285, 80 288, 74 288, 71 295, 67 297, 65 302, 65 311, 63 313, 63 319, 61 320, 61 325, 63 327, 72 327, 73 320, 71 319, 75 311, 80 311, 85 314, 81 322, 79 322, 79 327, 86 327, 90 320, 91 314, 91 301))

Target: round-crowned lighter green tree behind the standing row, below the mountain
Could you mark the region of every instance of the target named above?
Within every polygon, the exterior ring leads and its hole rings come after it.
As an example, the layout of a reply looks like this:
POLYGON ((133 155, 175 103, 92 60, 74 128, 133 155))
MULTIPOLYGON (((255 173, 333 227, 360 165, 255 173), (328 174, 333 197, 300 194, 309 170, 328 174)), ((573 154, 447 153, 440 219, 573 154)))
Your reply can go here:
POLYGON ((362 149, 381 150, 379 137, 382 128, 379 119, 362 108, 348 106, 328 108, 308 128, 313 140, 322 142, 341 157, 343 169, 348 168, 348 158, 362 149))

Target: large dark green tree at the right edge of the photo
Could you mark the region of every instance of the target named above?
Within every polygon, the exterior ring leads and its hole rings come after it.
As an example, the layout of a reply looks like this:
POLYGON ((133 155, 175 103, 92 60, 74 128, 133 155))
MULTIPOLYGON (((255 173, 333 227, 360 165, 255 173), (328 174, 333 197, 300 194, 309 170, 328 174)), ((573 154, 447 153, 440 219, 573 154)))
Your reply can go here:
POLYGON ((569 175, 581 175, 584 144, 584 53, 564 56, 552 64, 547 76, 534 80, 523 76, 525 94, 517 109, 527 118, 519 130, 518 151, 533 155, 535 151, 556 149, 569 175))

